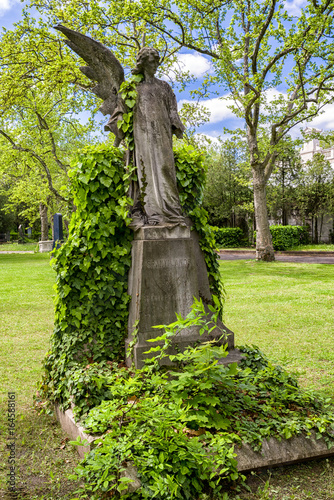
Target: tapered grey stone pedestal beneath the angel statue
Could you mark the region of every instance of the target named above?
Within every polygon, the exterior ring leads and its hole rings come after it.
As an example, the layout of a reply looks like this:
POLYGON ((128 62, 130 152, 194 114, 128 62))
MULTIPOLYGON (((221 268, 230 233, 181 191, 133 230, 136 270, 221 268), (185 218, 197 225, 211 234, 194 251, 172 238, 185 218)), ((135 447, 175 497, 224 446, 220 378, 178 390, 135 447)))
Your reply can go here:
MULTIPOLYGON (((175 313, 185 317, 190 312, 194 297, 204 300, 211 297, 206 267, 203 269, 203 265, 205 261, 196 236, 191 235, 189 227, 144 226, 135 231, 128 285, 132 299, 126 348, 132 340, 133 326, 137 321, 138 341, 134 347, 137 368, 142 367, 144 358, 150 356, 144 354, 145 351, 159 345, 146 342, 163 333, 152 326, 176 321, 175 313)), ((233 349, 233 333, 223 324, 220 326, 226 330, 229 348, 233 349)), ((216 336, 220 337, 221 334, 217 329, 216 336)), ((178 334, 174 345, 177 345, 177 350, 183 350, 201 340, 208 339, 201 337, 198 328, 193 327, 178 334)), ((128 360, 128 364, 131 364, 131 360, 128 360)))

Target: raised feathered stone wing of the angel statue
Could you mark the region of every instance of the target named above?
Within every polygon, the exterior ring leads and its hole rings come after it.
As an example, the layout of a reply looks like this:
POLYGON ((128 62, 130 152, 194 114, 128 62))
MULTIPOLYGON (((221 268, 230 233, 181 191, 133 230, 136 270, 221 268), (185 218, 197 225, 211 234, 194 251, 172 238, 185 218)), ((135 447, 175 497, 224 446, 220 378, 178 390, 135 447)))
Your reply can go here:
POLYGON ((103 99, 100 111, 104 115, 113 115, 116 108, 121 105, 118 91, 124 82, 124 70, 118 59, 102 43, 82 33, 61 24, 54 28, 68 38, 65 43, 88 63, 88 66, 81 67, 80 71, 91 80, 98 82, 92 92, 103 99))

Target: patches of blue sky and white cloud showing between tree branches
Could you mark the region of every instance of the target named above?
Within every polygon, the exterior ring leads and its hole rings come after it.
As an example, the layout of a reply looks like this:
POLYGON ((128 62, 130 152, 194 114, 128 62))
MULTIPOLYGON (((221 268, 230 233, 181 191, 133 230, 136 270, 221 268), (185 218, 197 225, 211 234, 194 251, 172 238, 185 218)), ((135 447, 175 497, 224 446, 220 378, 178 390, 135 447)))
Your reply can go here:
MULTIPOLYGON (((290 14, 298 15, 300 12, 300 7, 303 5, 304 0, 291 0, 287 1, 286 5, 290 14)), ((21 11, 23 4, 19 0, 0 0, 0 26, 11 29, 13 23, 17 22, 21 18, 21 11)), ((186 70, 189 70, 198 79, 200 83, 203 76, 210 72, 211 65, 210 61, 202 55, 199 54, 180 54, 179 62, 184 66, 186 70)), ((189 100, 188 92, 179 94, 176 92, 177 99, 179 102, 179 107, 182 105, 184 100, 189 100)), ((203 133, 211 137, 212 139, 223 136, 224 127, 235 128, 242 126, 242 120, 234 117, 231 110, 228 108, 229 100, 227 99, 207 99, 202 102, 211 112, 210 122, 203 125, 198 129, 199 133, 203 133)), ((325 113, 318 116, 311 124, 303 124, 304 126, 312 126, 323 130, 334 130, 334 104, 329 105, 326 108, 325 113)), ((292 131, 293 136, 299 135, 300 125, 292 131)))

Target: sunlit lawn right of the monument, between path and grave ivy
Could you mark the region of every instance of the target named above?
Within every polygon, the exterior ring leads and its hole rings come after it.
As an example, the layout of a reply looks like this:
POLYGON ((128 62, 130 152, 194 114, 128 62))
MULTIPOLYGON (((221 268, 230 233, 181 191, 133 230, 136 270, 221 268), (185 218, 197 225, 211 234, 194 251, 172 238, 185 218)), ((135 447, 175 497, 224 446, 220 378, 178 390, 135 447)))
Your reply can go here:
POLYGON ((334 266, 221 261, 225 323, 304 387, 334 398, 334 266))

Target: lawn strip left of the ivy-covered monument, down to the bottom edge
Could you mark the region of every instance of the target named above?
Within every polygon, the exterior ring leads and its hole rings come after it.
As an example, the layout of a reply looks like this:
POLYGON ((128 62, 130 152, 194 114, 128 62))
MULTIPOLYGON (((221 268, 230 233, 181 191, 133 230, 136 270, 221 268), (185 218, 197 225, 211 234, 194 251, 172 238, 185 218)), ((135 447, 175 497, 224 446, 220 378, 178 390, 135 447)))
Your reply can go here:
MULTIPOLYGON (((54 272, 47 254, 0 255, 0 498, 6 498, 7 392, 15 391, 17 485, 29 500, 68 499, 78 460, 55 420, 38 416, 33 394, 53 329, 54 272), (3 496, 2 496, 3 494, 3 496)), ((8 497, 9 498, 9 497, 8 497)))

